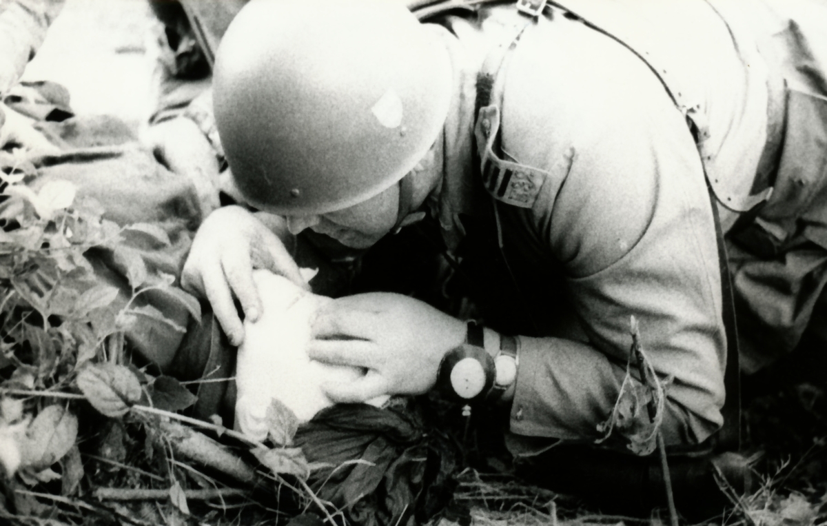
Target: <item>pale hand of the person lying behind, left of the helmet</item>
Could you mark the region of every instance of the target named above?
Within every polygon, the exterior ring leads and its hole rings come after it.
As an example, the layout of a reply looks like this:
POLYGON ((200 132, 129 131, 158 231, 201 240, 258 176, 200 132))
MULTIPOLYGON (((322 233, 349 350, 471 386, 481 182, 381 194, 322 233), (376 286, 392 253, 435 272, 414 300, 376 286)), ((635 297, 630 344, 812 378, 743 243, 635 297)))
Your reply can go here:
POLYGON ((202 218, 218 208, 218 160, 195 122, 184 117, 160 122, 146 131, 144 141, 161 164, 192 181, 202 218))

